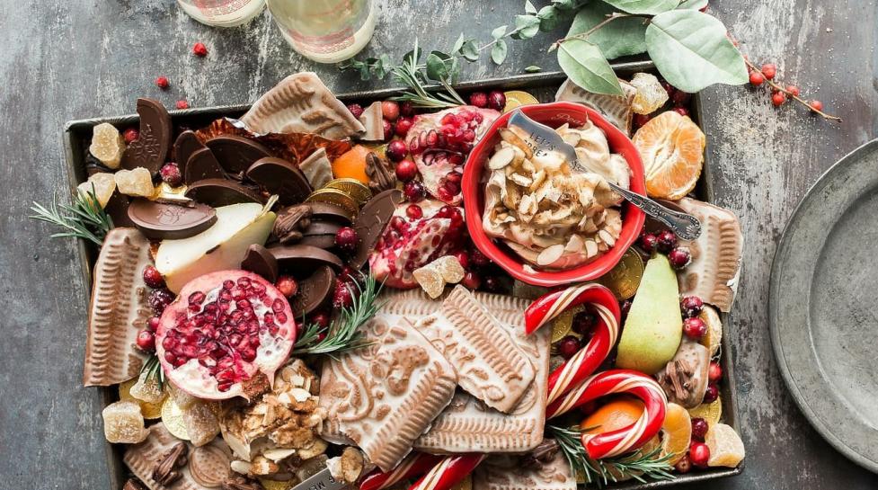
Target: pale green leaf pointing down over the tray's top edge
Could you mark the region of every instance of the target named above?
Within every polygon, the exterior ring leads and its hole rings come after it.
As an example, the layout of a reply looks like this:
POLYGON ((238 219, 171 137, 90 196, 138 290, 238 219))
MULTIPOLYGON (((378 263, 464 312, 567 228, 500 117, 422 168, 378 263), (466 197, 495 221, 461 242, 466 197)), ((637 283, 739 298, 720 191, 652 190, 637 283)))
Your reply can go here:
POLYGON ((594 94, 623 95, 607 58, 587 40, 565 40, 558 47, 558 64, 572 82, 594 94))

